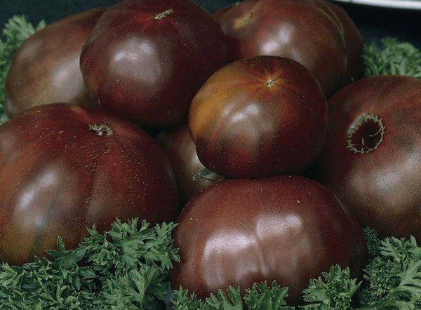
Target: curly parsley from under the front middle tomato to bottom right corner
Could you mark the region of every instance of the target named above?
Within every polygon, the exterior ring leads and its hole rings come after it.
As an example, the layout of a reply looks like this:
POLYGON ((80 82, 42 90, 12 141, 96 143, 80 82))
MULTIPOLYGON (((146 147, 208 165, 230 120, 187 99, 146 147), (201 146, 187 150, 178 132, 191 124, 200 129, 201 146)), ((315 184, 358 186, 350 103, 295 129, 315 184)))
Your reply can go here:
MULTIPOLYGON (((367 231, 371 237, 377 235, 367 229, 366 236, 367 231)), ((377 241, 374 238, 368 241, 372 248, 377 245, 377 249, 372 250, 378 256, 364 270, 364 281, 352 278, 348 268, 331 267, 323 273, 323 278, 310 281, 303 291, 307 304, 298 309, 421 309, 421 248, 415 238, 377 241)), ((239 288, 229 288, 227 292, 220 290, 218 296, 205 301, 180 288, 174 292, 173 305, 175 310, 294 309, 286 306, 287 294, 288 289, 280 288, 276 282, 270 288, 267 283, 255 284, 246 290, 243 300, 247 308, 243 308, 243 303, 239 302, 239 288)))

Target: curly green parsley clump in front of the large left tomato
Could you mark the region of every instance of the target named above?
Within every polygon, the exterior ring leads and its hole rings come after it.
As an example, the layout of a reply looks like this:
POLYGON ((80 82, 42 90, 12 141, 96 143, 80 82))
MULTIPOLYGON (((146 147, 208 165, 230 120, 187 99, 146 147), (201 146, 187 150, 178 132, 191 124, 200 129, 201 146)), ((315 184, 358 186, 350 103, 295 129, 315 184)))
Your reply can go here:
POLYGON ((168 271, 178 262, 175 224, 138 220, 103 234, 95 226, 75 250, 58 238, 55 260, 0 267, 0 309, 145 309, 166 296, 168 271))

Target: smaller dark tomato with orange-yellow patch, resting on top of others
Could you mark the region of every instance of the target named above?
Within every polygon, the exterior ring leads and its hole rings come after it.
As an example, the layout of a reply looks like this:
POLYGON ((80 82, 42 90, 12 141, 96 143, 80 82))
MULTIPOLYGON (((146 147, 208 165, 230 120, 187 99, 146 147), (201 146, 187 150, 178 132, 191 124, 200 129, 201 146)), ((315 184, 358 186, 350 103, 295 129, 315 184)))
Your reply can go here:
POLYGON ((299 173, 322 151, 326 124, 319 83, 298 62, 274 56, 220 69, 189 112, 200 161, 227 177, 299 173))

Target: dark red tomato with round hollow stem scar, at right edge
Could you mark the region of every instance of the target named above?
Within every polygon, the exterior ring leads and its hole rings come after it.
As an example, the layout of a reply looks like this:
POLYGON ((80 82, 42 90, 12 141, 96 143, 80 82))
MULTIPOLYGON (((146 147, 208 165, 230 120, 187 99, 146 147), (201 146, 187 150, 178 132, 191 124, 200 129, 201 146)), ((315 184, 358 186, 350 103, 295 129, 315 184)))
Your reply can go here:
POLYGON ((377 76, 329 102, 319 174, 361 224, 421 240, 421 81, 377 76))

